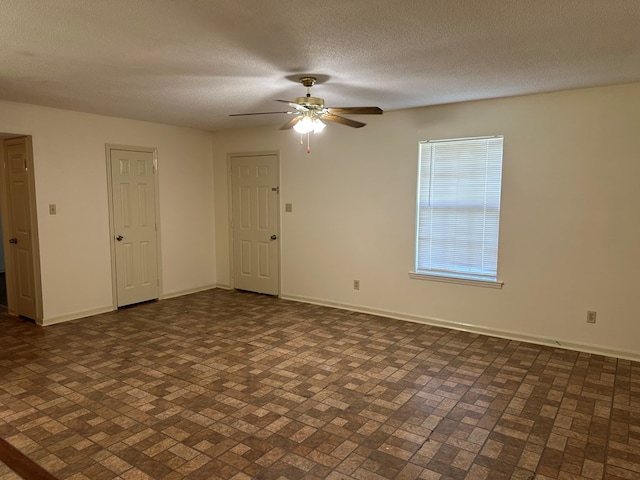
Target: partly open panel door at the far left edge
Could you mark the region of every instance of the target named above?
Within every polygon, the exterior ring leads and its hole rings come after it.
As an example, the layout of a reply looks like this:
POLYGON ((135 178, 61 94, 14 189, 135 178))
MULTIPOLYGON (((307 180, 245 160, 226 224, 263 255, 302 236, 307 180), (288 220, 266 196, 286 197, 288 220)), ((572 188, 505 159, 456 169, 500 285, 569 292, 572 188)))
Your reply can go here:
POLYGON ((5 171, 9 190, 11 232, 9 255, 13 265, 16 313, 36 319, 34 242, 31 234, 31 197, 27 172, 26 138, 4 141, 5 171))

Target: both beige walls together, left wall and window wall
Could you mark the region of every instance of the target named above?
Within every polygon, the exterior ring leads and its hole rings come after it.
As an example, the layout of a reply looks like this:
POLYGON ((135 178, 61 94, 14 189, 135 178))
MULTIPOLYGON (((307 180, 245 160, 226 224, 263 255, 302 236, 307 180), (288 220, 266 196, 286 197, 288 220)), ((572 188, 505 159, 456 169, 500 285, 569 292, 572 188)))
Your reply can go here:
POLYGON ((306 154, 275 127, 212 135, 0 102, 0 133, 33 136, 45 322, 112 305, 105 143, 158 148, 163 296, 231 284, 227 154, 277 150, 285 298, 640 357, 640 84, 366 120, 306 154), (491 134, 505 136, 504 288, 409 279, 417 142, 491 134))

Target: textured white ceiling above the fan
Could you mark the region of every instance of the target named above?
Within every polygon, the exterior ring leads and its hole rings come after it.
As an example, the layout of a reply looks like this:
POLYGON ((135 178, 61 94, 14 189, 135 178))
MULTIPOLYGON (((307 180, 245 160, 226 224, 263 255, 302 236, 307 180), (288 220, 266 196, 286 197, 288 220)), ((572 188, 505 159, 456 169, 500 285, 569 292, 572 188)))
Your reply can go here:
POLYGON ((329 106, 384 110, 637 82, 640 1, 0 0, 3 100, 278 125, 228 115, 281 110, 301 74, 329 106))

